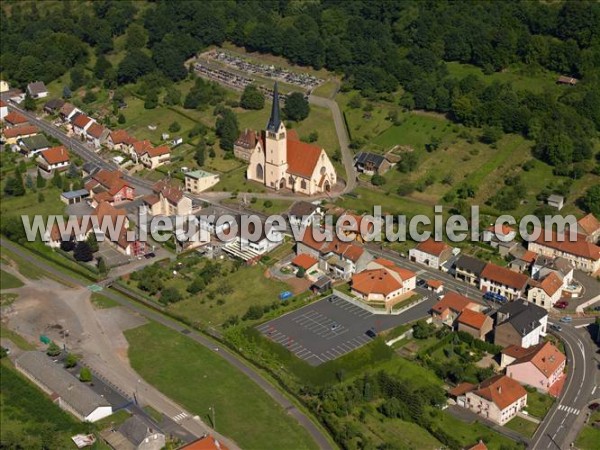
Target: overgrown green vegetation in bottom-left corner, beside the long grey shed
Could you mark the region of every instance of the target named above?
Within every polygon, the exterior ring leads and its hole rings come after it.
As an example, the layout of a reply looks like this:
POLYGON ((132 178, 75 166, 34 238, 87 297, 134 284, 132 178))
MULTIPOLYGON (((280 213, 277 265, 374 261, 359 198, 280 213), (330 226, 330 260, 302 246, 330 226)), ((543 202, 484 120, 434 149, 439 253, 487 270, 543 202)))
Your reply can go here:
MULTIPOLYGON (((4 361, 0 364, 0 440, 6 448, 76 449, 71 436, 93 430, 54 404, 4 361)), ((97 442, 92 449, 107 449, 97 442)))

